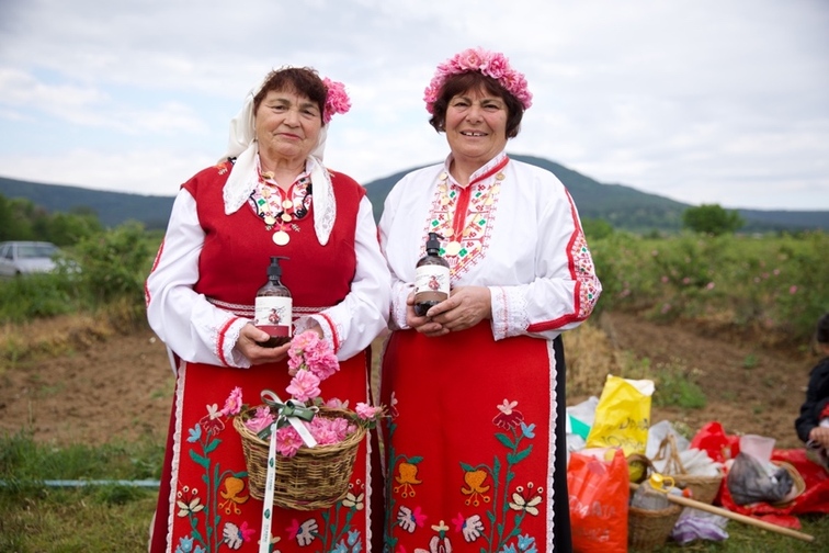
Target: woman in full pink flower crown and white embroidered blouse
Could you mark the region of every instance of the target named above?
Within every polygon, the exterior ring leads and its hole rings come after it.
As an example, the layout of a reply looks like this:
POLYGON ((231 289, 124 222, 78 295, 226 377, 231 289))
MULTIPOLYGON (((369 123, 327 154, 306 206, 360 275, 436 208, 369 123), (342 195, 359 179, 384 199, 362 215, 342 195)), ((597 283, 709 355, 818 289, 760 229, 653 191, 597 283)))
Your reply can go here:
POLYGON ((502 54, 455 55, 424 100, 450 155, 404 177, 379 223, 386 549, 570 551, 560 334, 601 292, 578 213, 554 174, 504 151, 532 94, 502 54), (418 316, 429 233, 451 293, 418 316))

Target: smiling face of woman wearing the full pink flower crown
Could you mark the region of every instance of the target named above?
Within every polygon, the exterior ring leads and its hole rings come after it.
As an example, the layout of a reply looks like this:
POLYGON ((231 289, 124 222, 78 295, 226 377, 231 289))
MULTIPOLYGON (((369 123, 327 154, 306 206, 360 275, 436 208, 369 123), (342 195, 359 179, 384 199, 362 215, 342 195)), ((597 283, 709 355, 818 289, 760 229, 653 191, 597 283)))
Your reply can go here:
POLYGON ((446 139, 455 161, 484 166, 507 147, 504 101, 482 89, 454 95, 446 106, 446 139))

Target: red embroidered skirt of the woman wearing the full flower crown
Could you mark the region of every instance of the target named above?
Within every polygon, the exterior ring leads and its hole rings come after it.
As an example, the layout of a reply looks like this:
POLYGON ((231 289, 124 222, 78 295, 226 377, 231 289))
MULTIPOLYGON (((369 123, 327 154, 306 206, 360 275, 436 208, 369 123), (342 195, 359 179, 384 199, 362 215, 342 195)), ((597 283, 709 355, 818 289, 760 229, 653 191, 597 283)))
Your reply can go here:
POLYGON ((383 358, 388 551, 550 551, 553 342, 496 341, 488 321, 397 331, 383 358))

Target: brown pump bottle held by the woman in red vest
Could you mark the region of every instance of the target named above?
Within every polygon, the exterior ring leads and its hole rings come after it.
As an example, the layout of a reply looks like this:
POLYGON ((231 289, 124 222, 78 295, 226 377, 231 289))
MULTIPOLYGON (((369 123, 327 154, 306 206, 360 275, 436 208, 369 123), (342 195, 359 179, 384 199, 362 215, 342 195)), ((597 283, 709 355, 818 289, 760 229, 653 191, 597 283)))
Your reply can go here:
POLYGON ((280 259, 288 258, 271 256, 268 282, 257 291, 253 305, 253 325, 271 335, 269 340, 257 342, 264 348, 282 346, 291 340, 292 335, 293 298, 291 291, 281 281, 280 259))

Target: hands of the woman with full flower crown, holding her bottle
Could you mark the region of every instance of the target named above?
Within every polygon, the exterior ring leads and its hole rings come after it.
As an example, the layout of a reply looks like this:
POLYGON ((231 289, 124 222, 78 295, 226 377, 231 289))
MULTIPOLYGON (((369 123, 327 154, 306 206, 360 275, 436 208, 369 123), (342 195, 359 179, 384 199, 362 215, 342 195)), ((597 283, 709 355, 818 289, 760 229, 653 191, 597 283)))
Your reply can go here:
MULTIPOLYGON (((414 294, 406 302, 414 304, 414 294)), ((452 289, 447 300, 432 306, 425 317, 414 315, 413 307, 406 314, 406 323, 425 336, 444 336, 466 330, 492 316, 492 298, 486 286, 458 286, 452 289)))

